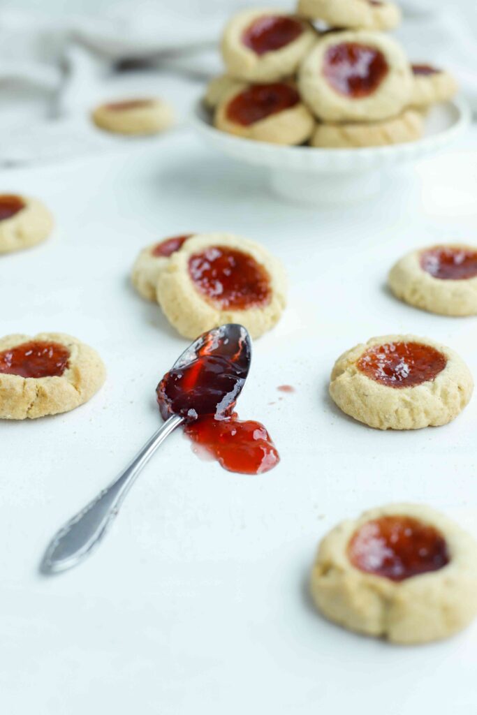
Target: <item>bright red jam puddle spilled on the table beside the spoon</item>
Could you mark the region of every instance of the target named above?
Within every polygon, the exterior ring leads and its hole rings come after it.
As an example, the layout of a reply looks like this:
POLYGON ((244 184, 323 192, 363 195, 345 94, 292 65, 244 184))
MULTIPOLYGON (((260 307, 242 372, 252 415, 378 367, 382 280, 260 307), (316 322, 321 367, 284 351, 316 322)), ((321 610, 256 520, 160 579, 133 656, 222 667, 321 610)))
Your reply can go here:
POLYGON ((187 425, 185 433, 230 472, 262 474, 280 461, 277 448, 260 422, 202 418, 187 425))

